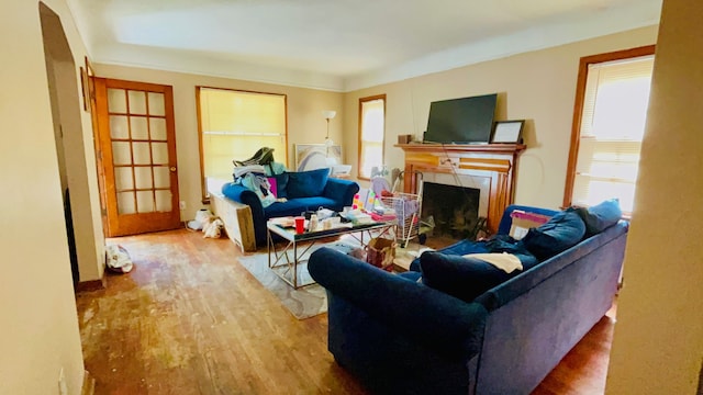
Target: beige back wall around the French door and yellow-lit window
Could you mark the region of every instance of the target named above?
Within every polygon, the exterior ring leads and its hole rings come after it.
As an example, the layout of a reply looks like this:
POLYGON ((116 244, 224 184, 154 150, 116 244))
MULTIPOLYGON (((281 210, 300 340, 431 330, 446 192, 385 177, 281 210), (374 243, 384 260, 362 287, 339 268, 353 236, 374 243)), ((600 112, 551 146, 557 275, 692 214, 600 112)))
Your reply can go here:
MULTIPOLYGON (((94 65, 99 77, 169 84, 174 87, 174 112, 176 117, 176 149, 178 155, 178 187, 180 200, 187 210, 181 212, 183 221, 191 219, 201 205, 200 154, 198 149, 198 116, 196 112, 196 87, 230 88, 269 93, 283 93, 288 98, 288 168, 294 166, 294 144, 322 144, 326 133, 323 110, 342 110, 342 93, 284 87, 261 82, 242 81, 181 72, 152 70, 113 65, 94 65)), ((342 138, 342 116, 330 123, 333 140, 342 138)), ((254 153, 252 153, 254 154, 254 153)), ((282 156, 274 153, 276 161, 282 156)), ((246 159, 246 158, 232 158, 246 159)))

